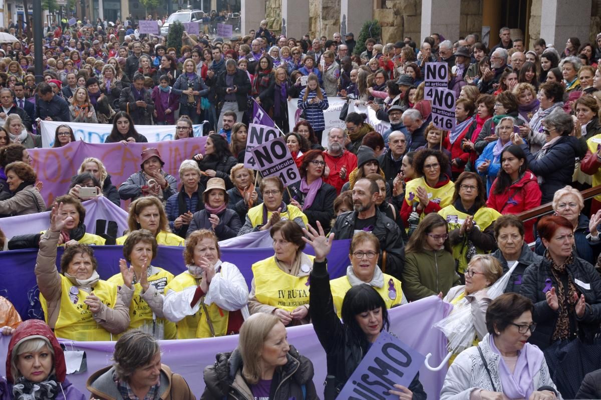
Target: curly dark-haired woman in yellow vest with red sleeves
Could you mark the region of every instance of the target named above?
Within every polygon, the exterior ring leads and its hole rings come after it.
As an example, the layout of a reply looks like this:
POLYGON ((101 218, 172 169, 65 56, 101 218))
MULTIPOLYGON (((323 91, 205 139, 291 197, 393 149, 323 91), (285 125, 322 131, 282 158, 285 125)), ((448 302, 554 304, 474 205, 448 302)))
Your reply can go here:
POLYGON ((419 221, 431 212, 439 212, 451 204, 454 185, 444 173, 448 158, 438 150, 423 149, 413 158, 413 170, 419 178, 405 186, 401 218, 407 231, 413 231, 419 221))

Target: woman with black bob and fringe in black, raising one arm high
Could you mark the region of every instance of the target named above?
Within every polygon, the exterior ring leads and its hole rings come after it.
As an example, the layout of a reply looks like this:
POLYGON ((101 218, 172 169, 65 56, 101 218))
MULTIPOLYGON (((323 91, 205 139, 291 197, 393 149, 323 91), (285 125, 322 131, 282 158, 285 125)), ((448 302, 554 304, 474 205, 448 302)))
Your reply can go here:
MULTIPOLYGON (((303 240, 313 246, 316 255, 310 274, 311 320, 317 338, 326 351, 328 375, 335 377, 335 391, 338 393, 361 363, 363 356, 376 341, 380 332, 388 330, 390 321, 382 296, 367 284, 356 285, 347 291, 342 303, 344 323, 338 318, 334 309, 326 262, 326 256, 332 248, 334 234, 326 237, 319 222, 317 222, 319 233, 311 226, 308 228, 309 231, 305 229, 303 231, 309 239, 303 237, 303 240)), ((426 399, 424 387, 419 382, 419 373, 415 375, 409 387, 398 384, 394 387, 395 390, 390 390, 390 393, 399 396, 400 399, 426 399)))

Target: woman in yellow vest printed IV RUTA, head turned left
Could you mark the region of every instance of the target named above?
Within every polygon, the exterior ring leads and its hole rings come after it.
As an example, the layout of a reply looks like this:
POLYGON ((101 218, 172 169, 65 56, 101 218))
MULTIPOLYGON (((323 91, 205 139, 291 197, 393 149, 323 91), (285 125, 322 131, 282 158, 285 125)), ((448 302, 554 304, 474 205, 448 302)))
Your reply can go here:
POLYGON ((275 314, 287 326, 309 323, 308 279, 315 257, 302 252, 304 234, 296 222, 279 221, 269 234, 275 254, 252 264, 248 309, 275 314))

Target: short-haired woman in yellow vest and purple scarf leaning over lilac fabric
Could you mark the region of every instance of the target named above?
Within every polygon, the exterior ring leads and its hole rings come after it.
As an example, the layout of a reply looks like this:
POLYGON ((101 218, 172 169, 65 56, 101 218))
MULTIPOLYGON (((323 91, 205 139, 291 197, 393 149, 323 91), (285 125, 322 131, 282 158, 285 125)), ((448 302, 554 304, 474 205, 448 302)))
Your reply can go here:
POLYGON ((284 185, 277 176, 270 176, 261 181, 263 204, 248 210, 246 219, 238 236, 260 230, 267 230, 280 220, 296 222, 304 228, 309 222, 307 216, 292 204, 284 203, 284 185))

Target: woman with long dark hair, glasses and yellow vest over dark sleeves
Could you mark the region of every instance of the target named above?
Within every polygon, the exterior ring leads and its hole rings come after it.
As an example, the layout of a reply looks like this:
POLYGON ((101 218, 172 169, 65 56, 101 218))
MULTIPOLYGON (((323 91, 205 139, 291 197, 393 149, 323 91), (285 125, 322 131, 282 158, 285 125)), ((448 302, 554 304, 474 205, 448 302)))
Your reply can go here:
POLYGON ((447 221, 457 272, 463 279, 465 268, 476 254, 496 250, 495 221, 501 214, 486 206, 484 184, 474 172, 462 172, 455 182, 453 203, 438 213, 447 221))

